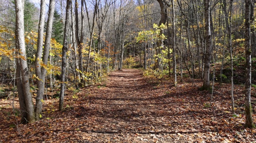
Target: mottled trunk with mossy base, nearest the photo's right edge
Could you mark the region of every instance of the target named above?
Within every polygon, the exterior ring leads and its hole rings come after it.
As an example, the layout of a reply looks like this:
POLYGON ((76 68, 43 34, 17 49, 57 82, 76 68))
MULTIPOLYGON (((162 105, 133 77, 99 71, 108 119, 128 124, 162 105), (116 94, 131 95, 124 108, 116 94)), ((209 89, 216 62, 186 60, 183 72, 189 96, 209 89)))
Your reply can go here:
POLYGON ((245 87, 245 111, 246 111, 246 124, 245 127, 255 128, 252 119, 252 105, 251 105, 251 24, 250 24, 250 8, 251 0, 245 0, 245 48, 246 48, 246 87, 245 87))

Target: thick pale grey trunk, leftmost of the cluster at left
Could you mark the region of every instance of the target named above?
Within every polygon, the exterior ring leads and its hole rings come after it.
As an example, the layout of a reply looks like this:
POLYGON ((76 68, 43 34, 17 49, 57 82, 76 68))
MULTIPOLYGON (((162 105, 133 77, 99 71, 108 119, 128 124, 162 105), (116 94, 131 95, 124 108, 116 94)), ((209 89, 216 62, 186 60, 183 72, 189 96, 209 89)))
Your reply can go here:
MULTIPOLYGON (((15 28, 15 45, 16 49, 19 50, 19 55, 21 57, 17 58, 17 61, 20 66, 20 72, 21 75, 21 82, 22 87, 19 82, 18 88, 20 89, 19 92, 22 92, 24 94, 21 94, 22 98, 25 98, 25 105, 27 112, 26 121, 29 123, 33 123, 35 121, 35 112, 34 112, 34 105, 32 101, 32 95, 30 92, 30 85, 29 85, 29 78, 28 78, 28 65, 27 65, 27 55, 26 55, 26 49, 25 49, 25 37, 24 37, 24 0, 15 0, 15 12, 16 12, 16 28, 15 28), (24 95, 24 96, 23 96, 24 95)), ((17 67, 18 68, 18 67, 17 67)), ((19 70, 17 70, 17 73, 19 70)), ((24 101, 19 101, 20 104, 24 105, 24 101)), ((24 108, 24 106, 22 106, 24 108)), ((24 119, 22 119, 24 120, 24 119)))

